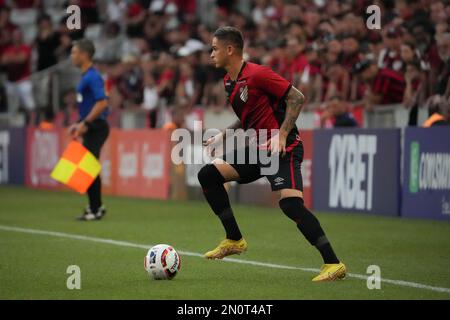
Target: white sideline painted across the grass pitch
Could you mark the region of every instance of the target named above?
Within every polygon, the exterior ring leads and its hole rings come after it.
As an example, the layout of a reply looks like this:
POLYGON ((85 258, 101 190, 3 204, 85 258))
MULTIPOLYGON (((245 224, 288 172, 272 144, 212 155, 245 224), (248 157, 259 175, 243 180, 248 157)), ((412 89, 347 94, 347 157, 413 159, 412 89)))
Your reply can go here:
MULTIPOLYGON (((149 249, 152 247, 152 245, 149 245, 149 244, 139 244, 139 243, 132 243, 132 242, 128 242, 128 241, 97 238, 97 237, 83 236, 83 235, 78 235, 78 234, 70 234, 70 233, 63 233, 63 232, 56 232, 56 231, 10 227, 10 226, 5 226, 5 225, 0 225, 0 230, 11 231, 11 232, 30 233, 30 234, 40 234, 40 235, 45 235, 45 236, 53 236, 53 237, 84 240, 84 241, 92 241, 92 242, 97 242, 97 243, 113 244, 113 245, 122 246, 122 247, 132 247, 132 248, 140 248, 140 249, 149 249)), ((179 251, 179 253, 182 255, 185 255, 185 256, 203 258, 203 254, 200 254, 197 252, 179 251)), ((315 268, 293 267, 293 266, 286 266, 286 265, 281 265, 281 264, 265 263, 265 262, 259 262, 259 261, 251 261, 251 260, 242 260, 242 259, 236 259, 236 258, 225 258, 225 259, 223 259, 223 261, 241 263, 241 264, 249 264, 249 265, 253 265, 253 266, 275 268, 275 269, 301 270, 301 271, 314 272, 314 273, 317 273, 320 271, 319 269, 315 269, 315 268)), ((351 277, 351 278, 362 279, 362 280, 367 280, 367 277, 368 277, 367 275, 357 274, 357 273, 347 273, 347 276, 351 277)), ((404 280, 392 280, 392 279, 384 279, 384 278, 382 278, 381 281, 384 283, 389 283, 389 284, 393 284, 396 286, 450 293, 450 288, 434 287, 434 286, 429 286, 426 284, 421 284, 421 283, 416 283, 416 282, 410 282, 410 281, 404 281, 404 280)))

